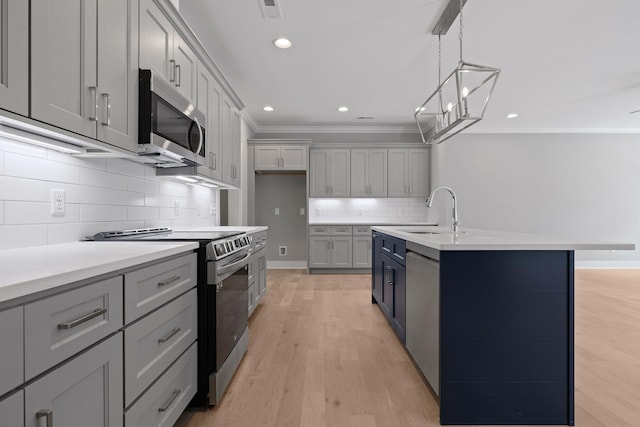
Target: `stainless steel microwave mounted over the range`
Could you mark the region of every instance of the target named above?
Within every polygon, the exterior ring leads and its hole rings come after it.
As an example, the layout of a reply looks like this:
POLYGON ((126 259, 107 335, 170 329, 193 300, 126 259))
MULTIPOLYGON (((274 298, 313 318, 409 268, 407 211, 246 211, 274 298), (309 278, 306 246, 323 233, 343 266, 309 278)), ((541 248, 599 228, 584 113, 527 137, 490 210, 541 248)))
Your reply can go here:
POLYGON ((206 116, 151 70, 138 90, 138 154, 157 167, 204 164, 206 116))

